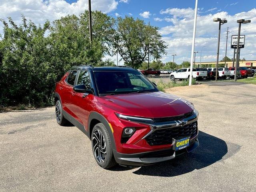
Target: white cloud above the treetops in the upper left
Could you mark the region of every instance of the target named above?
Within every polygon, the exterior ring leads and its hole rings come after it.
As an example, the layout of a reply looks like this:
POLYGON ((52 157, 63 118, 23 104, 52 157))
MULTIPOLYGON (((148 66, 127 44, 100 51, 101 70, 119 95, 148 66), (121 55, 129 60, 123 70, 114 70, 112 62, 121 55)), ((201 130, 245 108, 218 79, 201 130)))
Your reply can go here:
MULTIPOLYGON (((105 13, 115 10, 118 5, 116 0, 93 0, 91 3, 92 10, 105 13)), ((19 22, 20 15, 24 14, 27 19, 39 24, 47 19, 53 21, 67 14, 79 15, 86 9, 88 9, 88 0, 78 0, 72 4, 64 0, 1 0, 0 18, 11 17, 19 22)))

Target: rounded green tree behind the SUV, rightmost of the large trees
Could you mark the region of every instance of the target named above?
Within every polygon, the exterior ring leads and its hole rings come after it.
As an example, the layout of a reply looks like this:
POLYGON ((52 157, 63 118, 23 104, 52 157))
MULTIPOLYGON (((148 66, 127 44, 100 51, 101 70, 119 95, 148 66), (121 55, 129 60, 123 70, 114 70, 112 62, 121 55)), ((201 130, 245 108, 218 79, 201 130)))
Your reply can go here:
POLYGON ((118 17, 111 37, 113 50, 118 51, 124 63, 139 68, 150 53, 153 59, 160 59, 166 54, 167 46, 161 40, 158 28, 145 24, 143 20, 126 16, 118 17))

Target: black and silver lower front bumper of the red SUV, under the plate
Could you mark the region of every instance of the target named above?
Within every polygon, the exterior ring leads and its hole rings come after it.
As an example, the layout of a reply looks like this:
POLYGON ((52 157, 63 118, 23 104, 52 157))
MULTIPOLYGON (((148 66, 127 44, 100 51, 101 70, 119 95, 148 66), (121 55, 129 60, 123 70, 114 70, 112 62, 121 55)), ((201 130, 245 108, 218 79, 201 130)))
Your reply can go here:
POLYGON ((155 164, 158 162, 163 162, 167 160, 174 159, 176 156, 191 152, 192 150, 196 149, 199 146, 198 138, 194 140, 194 142, 179 151, 174 151, 172 149, 165 149, 165 150, 158 150, 153 152, 143 152, 143 153, 136 153, 136 154, 122 154, 118 153, 115 150, 114 157, 116 162, 120 165, 126 166, 144 166, 155 164))

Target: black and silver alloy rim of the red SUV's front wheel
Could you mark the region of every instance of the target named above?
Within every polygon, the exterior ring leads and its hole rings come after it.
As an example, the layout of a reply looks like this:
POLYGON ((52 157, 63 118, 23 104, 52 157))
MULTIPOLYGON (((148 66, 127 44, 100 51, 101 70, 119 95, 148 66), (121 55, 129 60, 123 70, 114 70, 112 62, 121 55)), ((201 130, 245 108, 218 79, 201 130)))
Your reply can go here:
POLYGON ((96 160, 104 163, 106 160, 107 150, 104 135, 98 129, 94 130, 92 135, 92 146, 96 160))

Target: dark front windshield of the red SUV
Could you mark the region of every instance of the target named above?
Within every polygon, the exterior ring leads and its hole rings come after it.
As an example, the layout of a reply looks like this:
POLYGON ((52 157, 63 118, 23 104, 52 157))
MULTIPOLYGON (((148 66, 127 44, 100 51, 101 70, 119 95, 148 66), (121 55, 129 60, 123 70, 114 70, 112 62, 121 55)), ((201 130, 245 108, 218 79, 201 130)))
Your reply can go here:
POLYGON ((158 91, 138 71, 95 71, 94 76, 100 95, 158 91))

